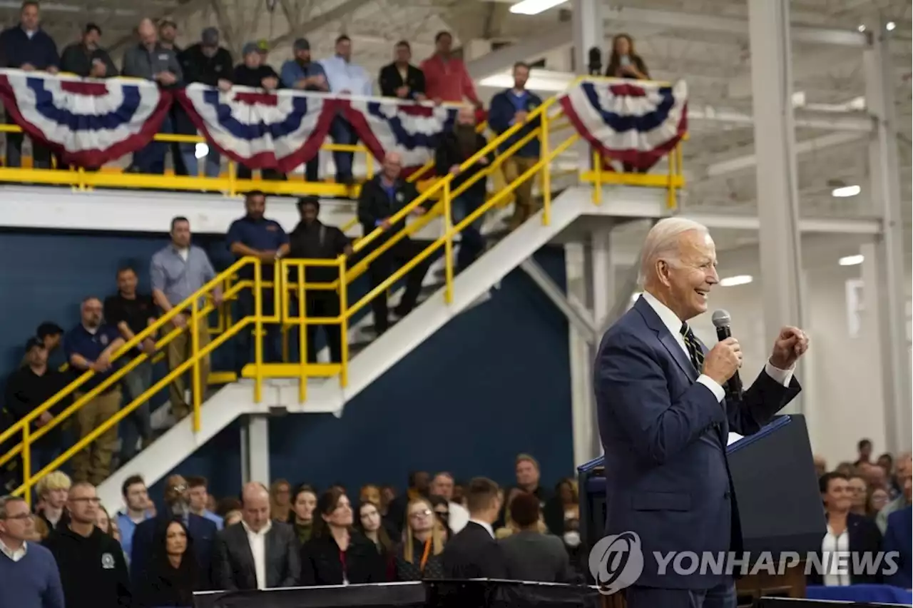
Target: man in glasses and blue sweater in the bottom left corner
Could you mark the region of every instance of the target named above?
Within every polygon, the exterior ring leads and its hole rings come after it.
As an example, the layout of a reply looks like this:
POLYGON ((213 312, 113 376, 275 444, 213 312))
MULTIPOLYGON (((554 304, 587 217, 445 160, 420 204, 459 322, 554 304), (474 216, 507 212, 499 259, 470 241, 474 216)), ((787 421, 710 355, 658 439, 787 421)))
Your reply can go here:
POLYGON ((60 573, 51 552, 34 539, 35 522, 26 501, 0 497, 0 589, 4 604, 63 608, 60 573))

